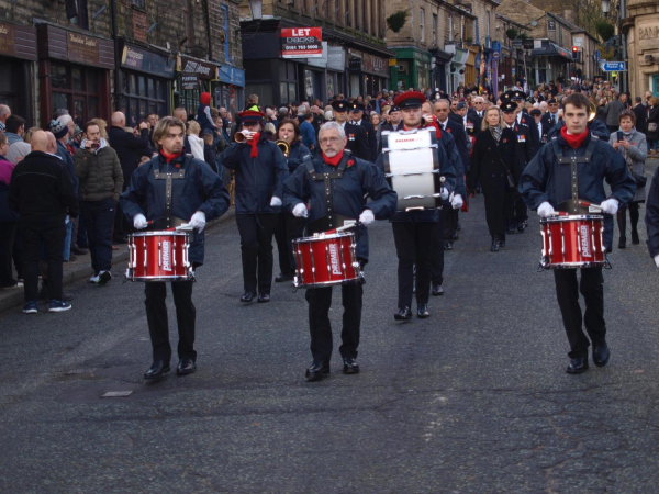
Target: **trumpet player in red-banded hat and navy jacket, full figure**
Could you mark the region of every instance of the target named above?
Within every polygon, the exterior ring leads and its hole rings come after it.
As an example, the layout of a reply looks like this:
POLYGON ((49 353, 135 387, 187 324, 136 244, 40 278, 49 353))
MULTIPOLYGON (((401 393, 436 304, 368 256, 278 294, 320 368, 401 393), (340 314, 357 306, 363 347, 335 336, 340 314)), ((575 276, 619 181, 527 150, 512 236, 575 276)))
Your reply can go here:
POLYGON ((264 116, 256 110, 238 113, 241 131, 247 131, 245 139, 232 143, 221 159, 222 165, 236 173, 236 224, 241 234, 245 289, 241 296, 243 303, 254 301, 257 287, 257 302, 270 302, 272 235, 288 177, 283 154, 263 132, 264 116))

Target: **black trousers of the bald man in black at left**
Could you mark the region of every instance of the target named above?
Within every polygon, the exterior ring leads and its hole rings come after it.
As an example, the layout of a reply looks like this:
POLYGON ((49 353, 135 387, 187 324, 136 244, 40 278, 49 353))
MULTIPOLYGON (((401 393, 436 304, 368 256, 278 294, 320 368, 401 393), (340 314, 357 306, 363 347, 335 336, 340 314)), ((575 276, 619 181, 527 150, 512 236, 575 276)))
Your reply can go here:
POLYGON ((43 247, 48 263, 48 296, 51 300, 62 300, 62 262, 66 238, 64 218, 62 224, 47 226, 19 222, 19 231, 23 242, 25 302, 38 301, 38 263, 43 247))

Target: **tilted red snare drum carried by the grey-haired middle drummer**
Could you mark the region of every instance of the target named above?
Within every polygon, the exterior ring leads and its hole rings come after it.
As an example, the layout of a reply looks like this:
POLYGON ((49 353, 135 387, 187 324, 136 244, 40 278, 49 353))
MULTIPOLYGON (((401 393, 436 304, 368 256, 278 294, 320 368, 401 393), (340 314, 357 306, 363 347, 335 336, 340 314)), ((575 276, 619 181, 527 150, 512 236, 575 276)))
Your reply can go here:
POLYGON ((295 288, 319 288, 359 282, 364 272, 356 255, 355 234, 321 233, 293 240, 298 269, 295 288))

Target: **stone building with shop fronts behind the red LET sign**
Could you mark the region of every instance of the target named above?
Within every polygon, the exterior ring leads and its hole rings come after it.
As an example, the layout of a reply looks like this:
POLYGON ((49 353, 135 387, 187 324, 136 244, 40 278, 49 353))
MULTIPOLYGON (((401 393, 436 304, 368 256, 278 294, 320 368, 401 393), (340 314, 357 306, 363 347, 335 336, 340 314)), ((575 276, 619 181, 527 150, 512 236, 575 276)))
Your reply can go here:
POLYGON ((263 104, 391 89, 386 0, 264 0, 260 18, 249 3, 241 3, 246 88, 263 104), (309 27, 321 29, 321 57, 282 53, 282 30, 309 27))

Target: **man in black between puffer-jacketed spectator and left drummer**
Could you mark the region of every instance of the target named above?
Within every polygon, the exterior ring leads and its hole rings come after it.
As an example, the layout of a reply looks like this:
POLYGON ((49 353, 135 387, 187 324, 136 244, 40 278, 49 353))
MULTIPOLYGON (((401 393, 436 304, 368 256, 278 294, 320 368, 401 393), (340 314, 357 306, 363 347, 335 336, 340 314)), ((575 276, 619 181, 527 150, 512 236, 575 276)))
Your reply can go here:
MULTIPOLYGON (((108 141, 110 142, 110 147, 116 151, 121 170, 123 171, 124 181, 122 192, 129 187, 131 175, 137 168, 139 159, 143 156, 150 155, 148 124, 146 122, 139 124, 139 137, 135 137, 131 132, 124 131, 125 126, 126 116, 122 112, 114 112, 112 114, 112 126, 108 130, 108 141)), ((113 243, 125 244, 127 242, 127 223, 121 206, 118 204, 114 215, 113 243)))

